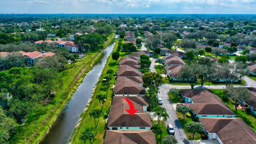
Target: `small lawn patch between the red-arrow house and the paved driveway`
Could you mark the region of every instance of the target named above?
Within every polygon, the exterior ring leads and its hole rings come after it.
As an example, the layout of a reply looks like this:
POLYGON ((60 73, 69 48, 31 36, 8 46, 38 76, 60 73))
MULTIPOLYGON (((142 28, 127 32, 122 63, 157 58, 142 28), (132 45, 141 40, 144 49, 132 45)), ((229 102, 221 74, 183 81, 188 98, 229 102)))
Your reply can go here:
MULTIPOLYGON (((163 121, 161 120, 161 122, 160 122, 160 126, 162 127, 162 124, 163 124, 163 121)), ((156 126, 157 125, 157 120, 154 120, 153 121, 153 125, 154 126, 156 126)), ((153 126, 153 127, 154 127, 153 126)), ((157 125, 158 126, 158 125, 157 125)), ((154 130, 154 133, 155 133, 155 136, 156 136, 156 143, 157 144, 161 144, 161 140, 163 139, 163 138, 165 138, 166 136, 168 136, 168 132, 167 132, 167 129, 166 129, 166 126, 165 126, 165 124, 163 125, 163 129, 162 129, 162 131, 160 132, 159 130, 158 130, 158 128, 153 128, 154 130)))

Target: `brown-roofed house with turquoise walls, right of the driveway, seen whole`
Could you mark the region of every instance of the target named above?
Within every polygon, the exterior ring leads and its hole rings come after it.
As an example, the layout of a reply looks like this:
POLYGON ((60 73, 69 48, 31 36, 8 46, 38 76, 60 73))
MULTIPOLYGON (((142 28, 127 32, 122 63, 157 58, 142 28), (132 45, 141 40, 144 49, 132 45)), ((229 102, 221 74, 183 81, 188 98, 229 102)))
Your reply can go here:
POLYGON ((192 114, 198 118, 234 118, 236 114, 210 90, 181 90, 181 96, 190 103, 192 114))

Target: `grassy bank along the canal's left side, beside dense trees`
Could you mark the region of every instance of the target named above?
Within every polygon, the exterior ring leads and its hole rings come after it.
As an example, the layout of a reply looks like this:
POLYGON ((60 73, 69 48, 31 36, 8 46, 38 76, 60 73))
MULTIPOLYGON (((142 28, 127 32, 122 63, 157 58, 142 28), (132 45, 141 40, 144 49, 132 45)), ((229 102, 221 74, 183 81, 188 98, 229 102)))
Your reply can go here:
MULTIPOLYGON (((114 33, 108 36, 108 40, 104 44, 104 48, 114 38, 114 33)), ((37 143, 46 134, 49 126, 58 117, 58 114, 64 109, 72 94, 76 91, 83 78, 90 71, 92 66, 100 60, 104 49, 96 49, 86 54, 84 58, 76 61, 77 68, 71 67, 64 76, 62 72, 63 87, 56 90, 54 98, 50 98, 46 104, 38 111, 31 112, 23 125, 18 126, 18 133, 9 140, 10 144, 37 143)))

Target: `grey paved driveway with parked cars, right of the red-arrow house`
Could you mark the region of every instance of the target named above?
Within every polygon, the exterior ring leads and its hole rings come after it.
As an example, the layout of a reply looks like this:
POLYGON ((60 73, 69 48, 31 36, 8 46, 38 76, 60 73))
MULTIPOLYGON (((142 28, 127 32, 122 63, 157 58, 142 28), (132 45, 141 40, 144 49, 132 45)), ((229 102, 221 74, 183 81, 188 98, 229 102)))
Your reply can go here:
POLYGON ((163 100, 162 107, 166 108, 167 113, 170 116, 170 118, 165 122, 165 124, 166 126, 167 124, 172 124, 172 126, 174 127, 175 136, 178 139, 179 144, 189 144, 187 140, 187 136, 180 124, 180 121, 176 116, 176 112, 172 106, 172 103, 169 100, 168 92, 170 88, 171 88, 170 84, 163 84, 162 86, 159 87, 160 94, 158 94, 158 97, 162 98, 163 100))

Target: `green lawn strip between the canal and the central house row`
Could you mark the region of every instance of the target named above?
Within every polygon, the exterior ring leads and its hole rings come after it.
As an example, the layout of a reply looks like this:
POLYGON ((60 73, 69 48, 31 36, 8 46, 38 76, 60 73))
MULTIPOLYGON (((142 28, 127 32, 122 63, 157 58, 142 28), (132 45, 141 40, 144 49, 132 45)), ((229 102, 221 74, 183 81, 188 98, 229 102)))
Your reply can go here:
MULTIPOLYGON (((116 43, 113 52, 116 51, 117 46, 118 46, 118 43, 116 43)), ((126 56, 127 54, 130 54, 130 52, 127 52, 127 53, 120 52, 120 58, 126 56)), ((112 60, 111 55, 108 58, 108 61, 106 63, 106 67, 102 71, 102 76, 100 77, 100 80, 99 80, 99 82, 96 86, 95 92, 92 96, 92 100, 90 101, 89 105, 86 106, 87 110, 85 110, 80 115, 80 117, 82 118, 82 120, 80 121, 80 125, 75 128, 75 130, 72 134, 72 137, 70 138, 70 142, 73 142, 74 144, 84 144, 84 141, 80 139, 80 135, 86 129, 92 129, 96 133, 96 140, 94 140, 94 143, 100 144, 100 143, 102 143, 102 140, 104 139, 105 130, 106 130, 106 118, 103 118, 103 116, 101 116, 100 120, 99 120, 98 127, 95 128, 93 118, 91 118, 89 116, 89 112, 92 109, 96 109, 96 108, 100 109, 101 108, 100 103, 96 99, 96 95, 106 94, 106 92, 105 92, 106 89, 104 88, 104 86, 102 86, 102 80, 105 76, 108 76, 108 74, 106 74, 106 71, 108 69, 112 69, 112 70, 114 70, 114 72, 117 72, 117 70, 118 70, 118 66, 116 65, 116 61, 112 60)), ((112 88, 113 84, 115 83, 114 77, 113 77, 112 80, 110 80, 110 82, 111 82, 110 88, 112 88)), ((104 103, 103 112, 110 109, 110 103, 112 101, 112 94, 113 94, 113 92, 112 92, 112 90, 110 90, 110 88, 108 89, 108 99, 104 103)))

